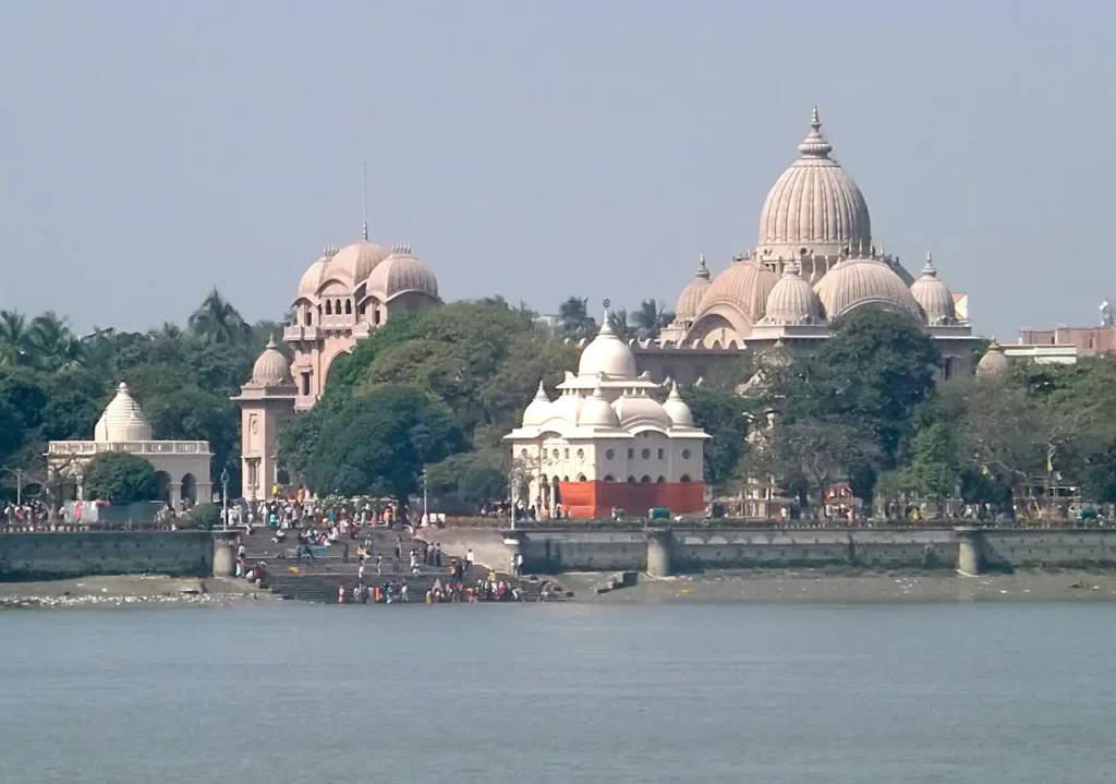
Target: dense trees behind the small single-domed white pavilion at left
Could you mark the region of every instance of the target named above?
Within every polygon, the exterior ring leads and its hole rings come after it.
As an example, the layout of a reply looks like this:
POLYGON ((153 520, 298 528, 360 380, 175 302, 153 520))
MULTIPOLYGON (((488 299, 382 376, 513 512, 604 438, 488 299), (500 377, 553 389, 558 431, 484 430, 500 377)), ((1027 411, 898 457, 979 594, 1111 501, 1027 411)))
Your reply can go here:
POLYGON ((213 475, 240 482, 234 395, 276 322, 244 323, 211 291, 189 328, 165 323, 146 333, 97 328, 77 335, 54 313, 28 318, 0 310, 0 497, 13 496, 13 471, 45 481, 49 440, 93 438, 116 385, 126 381, 156 438, 208 440, 213 475))

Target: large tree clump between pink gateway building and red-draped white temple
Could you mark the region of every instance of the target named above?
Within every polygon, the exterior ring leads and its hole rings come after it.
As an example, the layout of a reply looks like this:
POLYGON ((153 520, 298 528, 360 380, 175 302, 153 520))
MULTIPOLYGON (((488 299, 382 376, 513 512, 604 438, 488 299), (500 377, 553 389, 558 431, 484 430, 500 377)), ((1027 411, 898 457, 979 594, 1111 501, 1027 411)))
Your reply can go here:
POLYGON ((400 494, 414 493, 415 477, 430 465, 427 479, 441 495, 469 505, 502 498, 511 466, 501 437, 518 424, 539 380, 558 383, 577 356, 574 345, 539 332, 533 314, 502 299, 392 318, 334 361, 323 400, 280 432, 279 455, 319 493, 375 493, 406 503, 400 494), (393 405, 426 401, 401 413, 398 427, 408 433, 406 422, 433 418, 430 427, 443 433, 444 451, 404 450, 392 458, 397 468, 382 460, 393 449, 383 439, 410 438, 367 409, 382 395, 393 405), (359 447, 352 441, 357 412, 359 447), (445 429, 443 415, 452 428, 445 429), (330 465, 340 459, 339 442, 356 450, 346 468, 330 465))

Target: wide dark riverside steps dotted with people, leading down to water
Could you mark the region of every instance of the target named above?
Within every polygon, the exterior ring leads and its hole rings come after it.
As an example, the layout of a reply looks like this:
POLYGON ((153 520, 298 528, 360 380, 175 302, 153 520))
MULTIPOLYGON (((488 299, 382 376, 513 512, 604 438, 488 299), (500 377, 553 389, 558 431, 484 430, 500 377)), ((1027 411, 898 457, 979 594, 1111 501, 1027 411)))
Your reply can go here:
MULTIPOLYGON (((368 528, 359 529, 356 539, 338 539, 336 543, 315 552, 315 561, 302 560, 298 563, 290 553, 298 546, 297 534, 288 532, 287 541, 275 543, 270 528, 256 528, 250 536, 243 536, 244 560, 248 564, 263 562, 267 568, 267 584, 271 592, 283 599, 324 604, 337 603, 337 589, 345 586, 345 603, 352 603, 353 589, 359 582, 357 573, 359 558, 356 548, 363 547, 365 539, 372 536, 372 555, 365 561, 364 583, 369 587, 384 582, 407 582, 407 593, 411 604, 423 604, 426 592, 434 587, 434 582, 445 582, 450 576, 450 562, 454 556, 442 554, 441 566, 427 566, 420 562, 419 575, 411 574, 410 553, 413 548, 425 548, 426 543, 415 538, 406 529, 368 528), (396 537, 402 543, 398 572, 393 573, 392 562, 395 558, 396 537), (348 543, 348 563, 343 553, 344 542, 348 543), (376 556, 383 556, 381 575, 376 575, 376 556)), ((459 558, 463 561, 463 558, 459 558)), ((474 564, 472 574, 465 575, 465 583, 472 584, 478 577, 487 576, 488 566, 474 564)), ((499 574, 499 570, 498 570, 499 574)), ((500 579, 522 592, 522 601, 538 601, 542 584, 537 580, 517 579, 508 574, 499 574, 500 579)))

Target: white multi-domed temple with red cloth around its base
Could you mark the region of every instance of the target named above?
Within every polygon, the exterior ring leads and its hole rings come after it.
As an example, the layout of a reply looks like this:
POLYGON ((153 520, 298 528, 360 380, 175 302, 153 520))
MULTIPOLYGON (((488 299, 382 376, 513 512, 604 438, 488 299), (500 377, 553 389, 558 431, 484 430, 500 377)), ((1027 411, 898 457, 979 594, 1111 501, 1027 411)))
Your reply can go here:
POLYGON ((703 446, 690 407, 672 384, 636 374, 632 351, 605 315, 585 346, 577 375, 566 373, 550 400, 542 382, 522 424, 504 437, 517 468, 518 500, 542 516, 561 506, 573 517, 608 517, 623 508, 645 514, 702 511, 703 446))

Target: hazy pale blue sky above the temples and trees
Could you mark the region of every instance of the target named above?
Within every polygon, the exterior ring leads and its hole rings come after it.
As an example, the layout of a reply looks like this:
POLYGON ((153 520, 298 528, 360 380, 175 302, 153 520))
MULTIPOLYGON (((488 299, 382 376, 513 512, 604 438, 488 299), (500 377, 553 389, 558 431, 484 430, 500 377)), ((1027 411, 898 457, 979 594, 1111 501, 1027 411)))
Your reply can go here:
POLYGON ((818 104, 877 241, 975 326, 1116 295, 1101 2, 0 3, 0 307, 279 317, 327 242, 443 297, 673 307, 756 243, 818 104), (1106 141, 1108 140, 1108 141, 1106 141))

